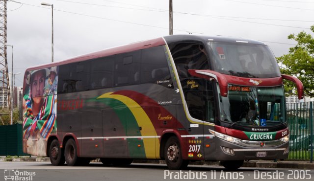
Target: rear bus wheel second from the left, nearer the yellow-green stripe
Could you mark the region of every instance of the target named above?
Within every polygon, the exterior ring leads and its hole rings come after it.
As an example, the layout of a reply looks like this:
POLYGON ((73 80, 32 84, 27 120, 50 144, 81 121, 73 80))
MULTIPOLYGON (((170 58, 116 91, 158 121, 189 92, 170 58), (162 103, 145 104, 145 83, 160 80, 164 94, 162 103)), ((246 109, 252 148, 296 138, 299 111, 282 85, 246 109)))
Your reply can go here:
POLYGON ((68 166, 75 166, 79 164, 77 145, 74 139, 69 139, 65 144, 64 158, 68 166))

